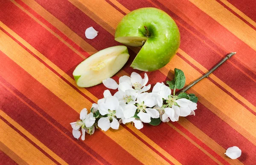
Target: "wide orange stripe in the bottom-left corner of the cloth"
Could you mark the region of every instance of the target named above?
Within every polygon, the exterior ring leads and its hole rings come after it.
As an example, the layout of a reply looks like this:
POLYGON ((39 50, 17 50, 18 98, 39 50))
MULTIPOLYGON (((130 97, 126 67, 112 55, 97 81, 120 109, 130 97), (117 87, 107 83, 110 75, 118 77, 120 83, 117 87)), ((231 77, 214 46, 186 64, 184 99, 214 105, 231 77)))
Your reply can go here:
MULTIPOLYGON (((51 159, 45 156, 35 146, 20 136, 15 130, 0 119, 0 142, 12 150, 17 156, 28 164, 55 165, 51 159)), ((19 162, 17 162, 19 163, 19 162)))

